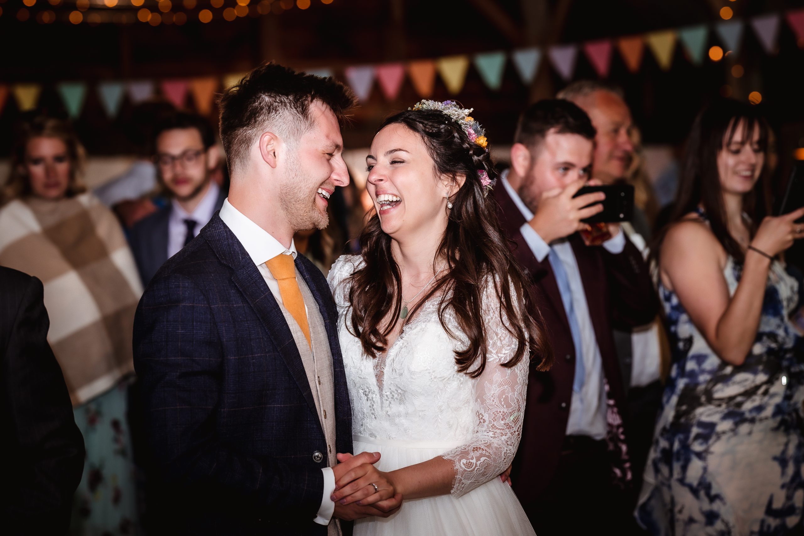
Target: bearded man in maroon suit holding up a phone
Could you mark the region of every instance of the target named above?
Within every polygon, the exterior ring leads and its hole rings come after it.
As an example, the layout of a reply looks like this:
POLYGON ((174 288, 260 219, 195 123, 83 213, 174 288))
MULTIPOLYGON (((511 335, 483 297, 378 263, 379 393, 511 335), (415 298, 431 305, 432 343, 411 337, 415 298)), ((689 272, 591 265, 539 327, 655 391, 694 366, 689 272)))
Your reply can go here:
MULTIPOLYGON (((658 309, 642 254, 619 225, 586 245, 581 220, 602 210, 589 180, 595 129, 569 101, 531 105, 519 118, 511 169, 494 188, 515 257, 530 274, 556 361, 531 368, 522 442, 511 480, 536 534, 596 534, 601 519, 624 528, 630 462, 621 415, 626 398, 612 328, 648 323, 658 309), (583 505, 583 515, 578 515, 583 505)), ((633 519, 630 521, 634 524, 633 519)))

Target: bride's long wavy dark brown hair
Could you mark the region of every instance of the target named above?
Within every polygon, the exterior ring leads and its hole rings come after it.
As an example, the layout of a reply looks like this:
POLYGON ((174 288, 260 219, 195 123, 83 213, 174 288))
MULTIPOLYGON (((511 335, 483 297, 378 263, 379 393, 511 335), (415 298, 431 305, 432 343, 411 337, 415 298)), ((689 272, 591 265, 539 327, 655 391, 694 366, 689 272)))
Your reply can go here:
MULTIPOLYGON (((537 369, 546 370, 552 364, 552 353, 541 318, 532 307, 530 285, 523 271, 515 263, 506 238, 500 230, 494 201, 486 197, 478 171, 486 171, 489 178, 497 178, 497 171, 489 153, 483 150, 445 114, 434 110, 407 110, 388 118, 379 130, 389 125, 404 125, 418 134, 435 164, 435 173, 457 179, 465 175, 466 181, 452 199, 447 227, 433 270, 446 263, 444 275, 437 279, 408 316, 416 314, 422 303, 433 295, 441 294, 438 315, 441 325, 449 333, 445 311, 451 309, 461 332, 469 339, 466 348, 455 352, 457 370, 470 377, 478 377, 486 368, 487 341, 485 315, 499 315, 512 336, 519 341, 516 353, 504 365, 512 367, 522 360, 526 350, 537 369), (483 292, 494 285, 494 303, 482 303, 483 292), (499 310, 490 307, 499 303, 499 310)), ((378 131, 379 131, 378 130, 378 131)), ((358 336, 367 355, 376 357, 388 349, 388 334, 396 326, 392 320, 385 328, 380 325, 388 317, 398 319, 402 306, 402 281, 399 266, 391 251, 391 237, 384 233, 375 213, 360 236, 365 265, 351 275, 349 300, 352 305, 350 331, 358 336)))

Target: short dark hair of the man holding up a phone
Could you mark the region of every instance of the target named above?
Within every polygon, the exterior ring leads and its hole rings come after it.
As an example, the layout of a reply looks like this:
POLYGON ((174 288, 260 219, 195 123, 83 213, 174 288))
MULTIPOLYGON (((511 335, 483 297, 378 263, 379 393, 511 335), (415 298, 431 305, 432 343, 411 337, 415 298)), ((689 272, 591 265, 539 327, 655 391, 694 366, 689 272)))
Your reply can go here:
POLYGON ((533 150, 550 131, 556 134, 579 134, 591 140, 597 134, 589 116, 575 103, 563 99, 544 99, 528 106, 519 116, 514 142, 533 150))

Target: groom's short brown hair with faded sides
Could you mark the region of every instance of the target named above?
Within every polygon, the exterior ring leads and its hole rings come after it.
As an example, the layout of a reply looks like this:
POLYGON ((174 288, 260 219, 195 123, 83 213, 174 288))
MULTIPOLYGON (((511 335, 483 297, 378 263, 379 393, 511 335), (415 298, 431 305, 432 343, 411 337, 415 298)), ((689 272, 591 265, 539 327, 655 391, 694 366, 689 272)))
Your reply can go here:
POLYGON ((244 162, 254 138, 266 129, 289 142, 304 134, 313 124, 310 105, 314 101, 329 106, 343 124, 356 99, 351 89, 331 76, 295 72, 273 62, 260 65, 226 89, 218 105, 220 141, 230 174, 244 162))

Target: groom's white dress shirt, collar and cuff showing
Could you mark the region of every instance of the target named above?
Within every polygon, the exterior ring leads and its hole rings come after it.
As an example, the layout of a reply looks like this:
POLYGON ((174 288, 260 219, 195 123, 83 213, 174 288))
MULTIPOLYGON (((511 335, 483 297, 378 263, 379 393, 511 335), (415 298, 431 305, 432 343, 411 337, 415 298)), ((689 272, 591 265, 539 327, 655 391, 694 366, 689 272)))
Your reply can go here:
MULTIPOLYGON (((265 262, 277 255, 293 255, 293 258, 296 258, 296 245, 291 240, 290 248, 285 248, 268 231, 234 208, 228 199, 224 200, 224 206, 220 208, 219 216, 243 245, 248 256, 252 258, 252 262, 256 265, 257 270, 260 270, 273 297, 277 299, 278 303, 283 303, 282 295, 279 292, 279 282, 277 278, 273 277, 268 266, 265 266, 265 262)), ((305 311, 307 311, 306 304, 305 311)), ((321 508, 318 509, 318 516, 313 521, 319 525, 328 525, 335 511, 335 503, 330 499, 330 495, 335 491, 335 473, 329 467, 322 468, 322 472, 324 473, 324 489, 321 508)))

